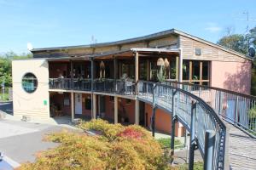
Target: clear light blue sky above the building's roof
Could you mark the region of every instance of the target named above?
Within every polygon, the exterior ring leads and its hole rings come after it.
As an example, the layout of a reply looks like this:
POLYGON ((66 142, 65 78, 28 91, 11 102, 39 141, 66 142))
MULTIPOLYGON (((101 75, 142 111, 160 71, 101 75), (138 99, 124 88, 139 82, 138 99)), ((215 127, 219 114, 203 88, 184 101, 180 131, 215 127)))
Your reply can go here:
POLYGON ((0 0, 0 54, 113 42, 175 28, 210 42, 256 26, 256 0, 0 0), (244 12, 249 13, 251 20, 244 12))

